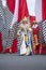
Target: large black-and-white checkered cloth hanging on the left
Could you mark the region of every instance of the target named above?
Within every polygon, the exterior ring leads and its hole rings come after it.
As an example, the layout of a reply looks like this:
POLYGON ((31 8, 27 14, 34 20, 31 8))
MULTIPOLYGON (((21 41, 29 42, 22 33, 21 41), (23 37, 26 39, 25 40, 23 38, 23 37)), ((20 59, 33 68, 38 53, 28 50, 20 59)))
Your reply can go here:
MULTIPOLYGON (((13 14, 6 6, 5 14, 3 15, 2 1, 0 0, 0 31, 2 31, 2 44, 3 48, 10 47, 12 44, 12 39, 10 39, 10 26, 13 19, 13 14)), ((13 37, 13 36, 12 36, 13 37)))

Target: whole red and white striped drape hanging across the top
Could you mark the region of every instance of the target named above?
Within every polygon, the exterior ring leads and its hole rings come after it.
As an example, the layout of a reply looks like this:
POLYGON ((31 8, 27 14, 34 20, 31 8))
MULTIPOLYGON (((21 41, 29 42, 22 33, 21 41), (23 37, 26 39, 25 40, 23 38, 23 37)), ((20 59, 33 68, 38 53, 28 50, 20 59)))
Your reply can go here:
POLYGON ((30 16, 31 20, 46 19, 46 0, 6 0, 7 6, 14 13, 13 22, 30 16))

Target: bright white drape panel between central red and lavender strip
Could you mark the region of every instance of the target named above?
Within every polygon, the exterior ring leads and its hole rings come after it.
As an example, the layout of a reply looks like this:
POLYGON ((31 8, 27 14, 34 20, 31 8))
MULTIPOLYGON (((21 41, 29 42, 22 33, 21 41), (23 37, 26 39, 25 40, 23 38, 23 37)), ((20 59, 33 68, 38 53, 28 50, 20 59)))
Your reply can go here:
POLYGON ((35 0, 27 0, 29 15, 35 16, 35 0))

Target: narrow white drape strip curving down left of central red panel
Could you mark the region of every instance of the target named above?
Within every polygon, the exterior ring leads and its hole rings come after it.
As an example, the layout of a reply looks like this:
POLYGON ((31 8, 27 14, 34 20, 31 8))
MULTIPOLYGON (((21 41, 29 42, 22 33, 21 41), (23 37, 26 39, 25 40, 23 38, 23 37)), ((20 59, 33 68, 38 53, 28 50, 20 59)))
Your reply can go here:
POLYGON ((18 20, 18 5, 19 5, 19 0, 16 0, 15 1, 15 12, 14 12, 14 16, 13 16, 11 28, 13 27, 13 25, 15 24, 15 22, 18 20))

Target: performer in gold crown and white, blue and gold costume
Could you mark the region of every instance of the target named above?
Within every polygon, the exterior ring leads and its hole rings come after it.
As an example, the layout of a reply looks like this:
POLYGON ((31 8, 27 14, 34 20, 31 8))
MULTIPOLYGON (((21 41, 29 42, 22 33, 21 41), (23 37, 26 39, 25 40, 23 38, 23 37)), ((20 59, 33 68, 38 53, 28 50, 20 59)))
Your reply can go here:
POLYGON ((19 25, 19 30, 17 32, 17 34, 20 36, 20 55, 29 55, 30 53, 32 54, 32 36, 30 37, 30 32, 32 32, 32 29, 30 28, 27 17, 25 17, 22 23, 19 25))

